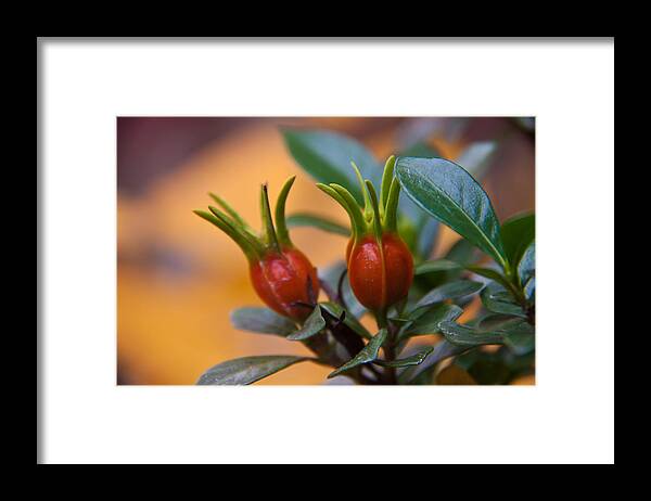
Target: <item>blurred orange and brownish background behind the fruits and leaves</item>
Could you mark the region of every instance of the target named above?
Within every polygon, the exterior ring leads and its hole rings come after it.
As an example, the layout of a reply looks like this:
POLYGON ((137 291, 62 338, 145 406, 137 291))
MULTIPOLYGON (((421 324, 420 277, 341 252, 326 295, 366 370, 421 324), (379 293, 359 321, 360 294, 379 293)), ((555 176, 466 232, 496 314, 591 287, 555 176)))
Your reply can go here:
MULTIPOLYGON (((450 159, 474 141, 498 141, 483 181, 498 217, 534 209, 534 133, 511 118, 118 117, 118 384, 194 384, 228 359, 309 355, 298 343, 230 325, 230 310, 263 305, 238 246, 192 214, 208 205, 213 191, 258 228, 259 184, 267 181, 275 200, 297 175, 288 215, 307 210, 347 223, 295 164, 279 126, 347 133, 382 160, 413 139, 450 159)), ((343 236, 310 228, 293 229, 292 239, 317 268, 341 259, 346 245, 343 236)), ((442 226, 434 255, 457 239, 442 226)), ((302 363, 257 384, 322 384, 330 371, 302 363)))

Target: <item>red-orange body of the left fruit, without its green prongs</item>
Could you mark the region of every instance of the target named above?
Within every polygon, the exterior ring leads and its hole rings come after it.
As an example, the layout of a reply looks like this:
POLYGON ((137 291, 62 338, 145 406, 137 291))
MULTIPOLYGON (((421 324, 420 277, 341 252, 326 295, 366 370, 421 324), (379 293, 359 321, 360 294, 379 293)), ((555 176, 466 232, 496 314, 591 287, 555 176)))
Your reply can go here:
POLYGON ((294 305, 311 304, 319 294, 317 270, 301 251, 285 247, 282 253, 269 253, 251 264, 250 274, 259 298, 276 312, 297 321, 311 313, 311 308, 294 305))

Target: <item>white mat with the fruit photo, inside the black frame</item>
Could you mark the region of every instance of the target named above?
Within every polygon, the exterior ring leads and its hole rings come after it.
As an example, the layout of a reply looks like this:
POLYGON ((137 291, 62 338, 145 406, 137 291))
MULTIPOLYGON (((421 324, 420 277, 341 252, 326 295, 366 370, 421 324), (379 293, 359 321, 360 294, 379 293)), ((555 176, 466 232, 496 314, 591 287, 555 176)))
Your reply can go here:
POLYGON ((37 43, 38 463, 614 462, 614 39, 37 43))

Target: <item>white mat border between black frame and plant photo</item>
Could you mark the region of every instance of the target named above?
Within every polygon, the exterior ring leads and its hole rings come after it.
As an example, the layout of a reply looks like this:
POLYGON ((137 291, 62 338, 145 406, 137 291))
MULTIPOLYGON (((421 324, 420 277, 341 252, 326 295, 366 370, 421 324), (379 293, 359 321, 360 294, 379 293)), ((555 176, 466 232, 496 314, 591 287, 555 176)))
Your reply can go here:
POLYGON ((41 461, 614 460, 612 41, 40 51, 41 461), (115 386, 116 115, 537 116, 537 386, 115 386))

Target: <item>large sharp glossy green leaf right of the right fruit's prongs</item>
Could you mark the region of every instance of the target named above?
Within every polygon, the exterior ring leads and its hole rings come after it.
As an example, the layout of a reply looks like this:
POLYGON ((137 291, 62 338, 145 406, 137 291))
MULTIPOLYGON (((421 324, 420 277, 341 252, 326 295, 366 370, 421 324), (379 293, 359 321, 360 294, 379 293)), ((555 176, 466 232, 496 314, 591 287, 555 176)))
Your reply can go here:
POLYGON ((462 167, 443 158, 400 157, 395 172, 420 207, 508 267, 490 200, 462 167))

